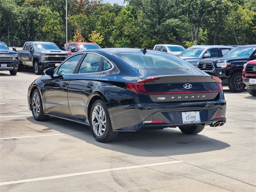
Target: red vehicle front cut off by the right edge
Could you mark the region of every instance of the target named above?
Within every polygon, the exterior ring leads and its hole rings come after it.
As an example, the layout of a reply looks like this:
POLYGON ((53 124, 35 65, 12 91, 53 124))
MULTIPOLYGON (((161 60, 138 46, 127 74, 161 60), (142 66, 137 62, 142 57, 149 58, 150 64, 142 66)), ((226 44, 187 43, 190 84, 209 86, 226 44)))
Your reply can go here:
POLYGON ((256 60, 244 64, 242 78, 249 94, 256 96, 256 60))

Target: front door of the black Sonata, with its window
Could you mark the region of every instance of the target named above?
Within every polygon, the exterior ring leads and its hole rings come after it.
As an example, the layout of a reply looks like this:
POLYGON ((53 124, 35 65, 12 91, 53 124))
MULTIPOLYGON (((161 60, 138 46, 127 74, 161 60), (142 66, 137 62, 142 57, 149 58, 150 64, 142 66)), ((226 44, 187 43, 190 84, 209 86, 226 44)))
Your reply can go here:
POLYGON ((70 115, 68 106, 68 84, 83 54, 70 56, 49 77, 44 84, 46 110, 53 113, 70 115))

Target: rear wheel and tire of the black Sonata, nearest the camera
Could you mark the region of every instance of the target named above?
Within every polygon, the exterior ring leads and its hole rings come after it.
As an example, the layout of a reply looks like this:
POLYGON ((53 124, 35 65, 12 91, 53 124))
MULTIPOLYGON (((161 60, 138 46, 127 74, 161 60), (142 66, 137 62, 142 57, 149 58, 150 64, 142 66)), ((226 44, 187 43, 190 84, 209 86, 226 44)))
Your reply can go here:
POLYGON ((94 138, 98 142, 112 142, 118 136, 118 132, 114 132, 112 129, 107 106, 102 100, 96 100, 92 105, 90 111, 90 128, 94 138))

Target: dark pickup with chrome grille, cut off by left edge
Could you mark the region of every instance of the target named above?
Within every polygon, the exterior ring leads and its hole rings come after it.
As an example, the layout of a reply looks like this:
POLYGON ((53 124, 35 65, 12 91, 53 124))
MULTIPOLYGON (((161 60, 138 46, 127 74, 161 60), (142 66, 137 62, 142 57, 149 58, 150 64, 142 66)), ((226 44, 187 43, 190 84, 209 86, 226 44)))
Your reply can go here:
POLYGON ((0 41, 0 71, 8 70, 11 75, 16 75, 18 69, 18 55, 16 47, 12 47, 12 51, 8 46, 0 41))

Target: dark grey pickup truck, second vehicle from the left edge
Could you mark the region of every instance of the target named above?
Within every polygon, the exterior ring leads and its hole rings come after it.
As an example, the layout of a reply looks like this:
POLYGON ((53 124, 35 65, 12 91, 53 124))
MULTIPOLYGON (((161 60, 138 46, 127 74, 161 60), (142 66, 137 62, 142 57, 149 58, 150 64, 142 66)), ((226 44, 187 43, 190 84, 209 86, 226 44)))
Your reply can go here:
POLYGON ((52 42, 26 42, 22 50, 17 50, 17 52, 18 71, 24 66, 33 67, 34 73, 37 75, 47 68, 56 68, 68 57, 68 52, 60 50, 52 42))

